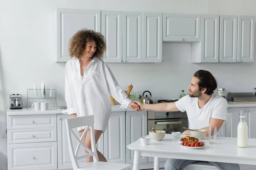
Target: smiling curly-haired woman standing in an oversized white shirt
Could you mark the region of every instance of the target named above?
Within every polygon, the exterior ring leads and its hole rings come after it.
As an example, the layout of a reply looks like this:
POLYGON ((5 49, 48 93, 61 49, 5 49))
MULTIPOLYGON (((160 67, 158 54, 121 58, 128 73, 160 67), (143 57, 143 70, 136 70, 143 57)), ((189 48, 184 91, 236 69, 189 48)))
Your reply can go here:
MULTIPOLYGON (((65 67, 65 100, 67 110, 63 113, 71 117, 94 115, 94 133, 96 143, 106 130, 111 113, 111 96, 122 104, 123 108, 138 106, 118 85, 110 68, 102 60, 106 51, 105 38, 99 32, 81 29, 70 39, 69 53, 72 57, 65 67)), ((85 127, 78 128, 80 136, 85 127)), ((83 143, 91 148, 90 130, 83 143)), ((86 151, 86 153, 88 153, 86 151)), ((99 161, 106 161, 97 150, 99 161)), ((92 162, 92 156, 87 157, 92 162)))

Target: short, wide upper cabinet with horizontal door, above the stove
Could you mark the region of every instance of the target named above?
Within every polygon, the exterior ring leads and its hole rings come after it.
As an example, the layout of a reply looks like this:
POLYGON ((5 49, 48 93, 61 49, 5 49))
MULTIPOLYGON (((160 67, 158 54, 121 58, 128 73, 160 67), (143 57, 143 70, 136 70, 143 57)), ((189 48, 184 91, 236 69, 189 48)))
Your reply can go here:
POLYGON ((163 14, 164 42, 199 42, 200 14, 163 14))

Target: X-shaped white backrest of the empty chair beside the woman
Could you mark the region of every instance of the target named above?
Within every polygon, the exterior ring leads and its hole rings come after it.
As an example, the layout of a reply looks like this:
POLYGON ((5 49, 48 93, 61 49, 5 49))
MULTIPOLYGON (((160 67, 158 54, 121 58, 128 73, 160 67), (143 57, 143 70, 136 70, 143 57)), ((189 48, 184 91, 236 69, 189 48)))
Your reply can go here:
POLYGON ((97 150, 96 150, 93 124, 94 124, 94 115, 81 116, 81 117, 66 119, 68 148, 69 148, 70 159, 71 159, 72 166, 73 166, 74 170, 79 168, 79 164, 77 163, 77 161, 79 159, 84 159, 88 156, 93 156, 93 161, 99 161, 99 158, 98 158, 98 155, 97 155, 97 150), (83 134, 79 138, 78 136, 76 136, 75 132, 73 131, 73 128, 82 127, 82 126, 86 126, 86 128, 84 129, 83 134), (83 139, 84 139, 84 136, 86 135, 89 128, 90 128, 90 134, 91 134, 90 137, 91 137, 92 150, 90 150, 82 142, 83 139), (76 146, 76 150, 74 150, 71 134, 73 134, 75 139, 78 141, 78 145, 76 146), (84 149, 86 149, 89 153, 85 153, 81 156, 78 156, 80 146, 84 147, 84 149))

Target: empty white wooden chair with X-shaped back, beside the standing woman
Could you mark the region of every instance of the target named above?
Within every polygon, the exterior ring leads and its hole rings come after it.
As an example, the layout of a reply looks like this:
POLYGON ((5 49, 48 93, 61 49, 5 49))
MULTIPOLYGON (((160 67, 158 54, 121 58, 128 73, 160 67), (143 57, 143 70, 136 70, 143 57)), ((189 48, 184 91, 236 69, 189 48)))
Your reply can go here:
POLYGON ((99 161, 97 151, 96 151, 96 143, 94 137, 94 116, 81 116, 76 118, 66 119, 66 126, 67 126, 67 139, 68 139, 68 147, 70 153, 70 159, 72 162, 73 170, 127 170, 131 168, 131 164, 119 164, 119 163, 110 163, 110 162, 102 162, 99 161), (86 126, 84 133, 82 136, 76 136, 73 131, 73 128, 77 130, 77 127, 86 126), (92 150, 90 150, 83 142, 84 136, 87 130, 90 128, 91 130, 91 146, 92 150), (76 146, 76 150, 74 150, 72 136, 74 135, 75 139, 79 142, 76 146), (78 156, 80 146, 84 147, 89 153, 84 153, 81 156, 78 156), (78 160, 85 159, 88 156, 93 156, 93 162, 83 164, 79 166, 78 160))

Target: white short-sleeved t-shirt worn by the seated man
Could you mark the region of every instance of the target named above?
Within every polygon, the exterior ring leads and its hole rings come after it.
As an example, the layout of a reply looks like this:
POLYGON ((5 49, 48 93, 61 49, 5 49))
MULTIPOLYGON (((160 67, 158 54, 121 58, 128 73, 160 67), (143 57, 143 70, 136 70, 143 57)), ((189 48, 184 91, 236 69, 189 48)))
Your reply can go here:
POLYGON ((201 109, 198 107, 198 98, 189 95, 179 99, 175 105, 181 112, 186 111, 190 129, 209 127, 211 118, 227 119, 227 100, 219 95, 212 94, 201 109))

